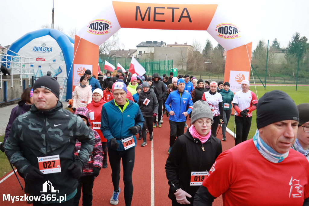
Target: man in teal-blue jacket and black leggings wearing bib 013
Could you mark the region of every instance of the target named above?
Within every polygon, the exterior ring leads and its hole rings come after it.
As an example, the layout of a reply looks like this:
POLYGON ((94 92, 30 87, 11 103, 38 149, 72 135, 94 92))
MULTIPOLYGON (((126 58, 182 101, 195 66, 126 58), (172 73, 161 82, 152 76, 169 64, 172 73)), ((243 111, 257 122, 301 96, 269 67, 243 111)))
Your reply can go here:
POLYGON ((135 135, 142 130, 144 118, 138 104, 125 98, 125 83, 112 86, 114 99, 105 103, 101 113, 101 131, 107 139, 109 164, 112 168, 114 191, 110 204, 118 204, 120 193, 120 162, 123 165, 125 205, 131 205, 133 196, 132 172, 135 160, 135 135), (108 112, 107 112, 108 111, 108 112))

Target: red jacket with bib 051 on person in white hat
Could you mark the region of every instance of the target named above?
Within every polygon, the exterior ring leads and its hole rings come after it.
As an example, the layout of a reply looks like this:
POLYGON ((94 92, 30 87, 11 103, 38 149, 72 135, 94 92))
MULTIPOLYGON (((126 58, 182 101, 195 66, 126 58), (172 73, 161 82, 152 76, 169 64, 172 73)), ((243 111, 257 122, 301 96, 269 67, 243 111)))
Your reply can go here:
POLYGON ((106 101, 102 98, 99 103, 95 103, 92 99, 91 103, 87 105, 87 109, 89 110, 91 129, 98 132, 101 137, 101 142, 107 142, 107 139, 102 134, 101 131, 101 111, 102 106, 106 103, 106 101))

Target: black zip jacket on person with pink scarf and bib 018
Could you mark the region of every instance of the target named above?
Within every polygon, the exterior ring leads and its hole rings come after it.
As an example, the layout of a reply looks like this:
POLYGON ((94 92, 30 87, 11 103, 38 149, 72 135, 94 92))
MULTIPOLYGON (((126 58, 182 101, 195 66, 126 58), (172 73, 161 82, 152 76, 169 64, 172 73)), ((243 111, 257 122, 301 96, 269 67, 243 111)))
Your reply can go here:
POLYGON ((209 171, 221 152, 219 139, 211 135, 202 144, 199 139, 192 137, 188 128, 186 133, 176 139, 166 161, 165 171, 170 185, 168 197, 176 201, 174 191, 181 188, 192 195, 192 198, 187 197, 187 200, 193 203, 194 194, 200 186, 190 186, 191 172, 209 171))

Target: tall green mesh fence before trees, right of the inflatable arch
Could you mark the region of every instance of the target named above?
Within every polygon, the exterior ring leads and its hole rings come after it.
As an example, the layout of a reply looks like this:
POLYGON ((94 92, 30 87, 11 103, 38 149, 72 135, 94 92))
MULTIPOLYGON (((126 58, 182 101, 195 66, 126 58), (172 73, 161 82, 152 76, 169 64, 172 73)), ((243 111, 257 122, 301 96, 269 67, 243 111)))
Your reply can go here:
POLYGON ((288 43, 283 42, 286 47, 280 47, 280 44, 276 46, 270 41, 259 42, 252 52, 250 82, 253 83, 253 75, 255 83, 264 87, 269 84, 309 84, 308 44, 306 41, 302 42, 302 38, 293 38, 288 43))

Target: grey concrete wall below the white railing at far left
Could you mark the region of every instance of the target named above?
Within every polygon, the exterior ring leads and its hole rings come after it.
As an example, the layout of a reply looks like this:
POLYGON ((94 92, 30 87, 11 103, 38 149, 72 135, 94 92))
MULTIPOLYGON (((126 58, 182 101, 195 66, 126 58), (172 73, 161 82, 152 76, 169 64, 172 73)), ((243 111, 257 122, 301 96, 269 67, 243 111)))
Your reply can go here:
MULTIPOLYGON (((13 75, 13 87, 11 87, 11 76, 2 75, 2 88, 0 89, 0 106, 2 104, 7 104, 11 101, 20 99, 21 94, 23 93, 23 85, 20 86, 20 78, 14 78, 14 76, 19 77, 19 75, 13 75), (7 78, 7 79, 6 79, 7 78), (7 99, 4 101, 4 82, 7 83, 7 99)), ((24 79, 23 79, 24 80, 24 79)), ((26 87, 29 87, 29 79, 26 80, 26 87)), ((23 84, 23 81, 22 81, 23 84)))

